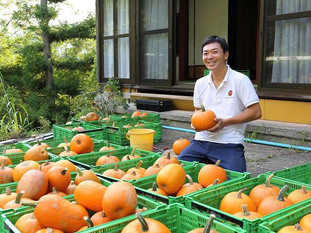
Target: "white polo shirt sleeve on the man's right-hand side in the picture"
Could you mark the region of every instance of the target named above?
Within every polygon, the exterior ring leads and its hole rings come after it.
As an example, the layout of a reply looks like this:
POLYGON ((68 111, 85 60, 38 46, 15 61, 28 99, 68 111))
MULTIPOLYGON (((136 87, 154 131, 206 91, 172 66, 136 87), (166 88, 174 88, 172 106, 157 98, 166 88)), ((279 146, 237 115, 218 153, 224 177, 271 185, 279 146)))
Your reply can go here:
POLYGON ((240 100, 242 101, 245 108, 254 103, 259 103, 259 98, 255 91, 253 83, 246 75, 244 75, 241 79, 239 94, 240 100))

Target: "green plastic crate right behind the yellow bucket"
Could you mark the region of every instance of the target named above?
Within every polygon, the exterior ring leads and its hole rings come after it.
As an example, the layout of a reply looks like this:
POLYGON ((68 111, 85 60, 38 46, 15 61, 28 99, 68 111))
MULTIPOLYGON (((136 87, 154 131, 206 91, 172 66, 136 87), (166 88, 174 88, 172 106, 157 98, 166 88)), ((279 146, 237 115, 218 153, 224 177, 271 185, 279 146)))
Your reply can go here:
MULTIPOLYGON (((128 123, 129 122, 126 122, 126 124, 128 123)), ((132 124, 134 124, 134 122, 132 122, 132 124)), ((124 125, 123 122, 116 123, 115 127, 112 127, 112 125, 106 125, 105 132, 107 135, 107 140, 109 142, 112 142, 112 143, 115 143, 121 146, 129 146, 130 140, 126 138, 126 133, 129 130, 152 129, 152 130, 155 130, 154 142, 162 141, 162 124, 161 123, 152 123, 152 122, 147 122, 144 120, 139 120, 139 121, 135 121, 135 124, 132 125, 133 127, 129 127, 129 128, 123 128, 123 125, 124 125), (145 126, 134 127, 134 125, 137 124, 138 122, 145 124, 145 126)))

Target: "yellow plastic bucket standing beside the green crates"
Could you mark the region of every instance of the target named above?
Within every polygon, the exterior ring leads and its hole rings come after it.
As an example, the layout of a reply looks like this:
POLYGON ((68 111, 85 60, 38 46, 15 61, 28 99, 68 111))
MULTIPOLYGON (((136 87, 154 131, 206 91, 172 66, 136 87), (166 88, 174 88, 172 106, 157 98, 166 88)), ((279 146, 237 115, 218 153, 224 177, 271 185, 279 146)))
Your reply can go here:
POLYGON ((135 129, 126 133, 126 138, 130 140, 131 147, 137 146, 140 150, 152 151, 154 145, 155 131, 151 129, 135 129))

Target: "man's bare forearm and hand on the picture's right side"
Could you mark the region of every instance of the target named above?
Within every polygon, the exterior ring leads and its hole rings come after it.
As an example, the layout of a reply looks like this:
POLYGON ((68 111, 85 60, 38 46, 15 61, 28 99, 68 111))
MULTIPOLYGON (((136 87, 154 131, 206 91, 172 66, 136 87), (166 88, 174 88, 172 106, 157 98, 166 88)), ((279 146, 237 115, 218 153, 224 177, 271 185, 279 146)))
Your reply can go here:
POLYGON ((261 117, 261 109, 259 103, 254 103, 248 106, 242 113, 237 116, 233 116, 230 118, 215 118, 217 124, 209 129, 208 131, 211 133, 220 131, 225 126, 242 124, 246 122, 250 122, 252 120, 257 120, 261 117))

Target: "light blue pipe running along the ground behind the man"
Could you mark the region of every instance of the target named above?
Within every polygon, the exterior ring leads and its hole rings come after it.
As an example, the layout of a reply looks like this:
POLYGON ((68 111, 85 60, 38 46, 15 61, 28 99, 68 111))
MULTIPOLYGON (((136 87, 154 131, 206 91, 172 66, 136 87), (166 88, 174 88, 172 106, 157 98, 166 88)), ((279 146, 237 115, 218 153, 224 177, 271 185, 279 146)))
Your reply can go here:
MULTIPOLYGON (((188 129, 177 128, 177 127, 166 126, 166 125, 162 125, 162 128, 163 129, 169 129, 169 130, 177 130, 177 131, 182 131, 182 132, 187 132, 187 133, 195 133, 194 130, 188 130, 188 129)), ((267 145, 267 146, 311 151, 310 147, 296 146, 296 145, 290 145, 290 144, 279 143, 279 142, 269 142, 269 141, 258 140, 258 139, 250 139, 250 138, 246 138, 246 137, 244 137, 243 140, 244 140, 244 142, 252 142, 252 143, 257 143, 257 144, 262 144, 262 145, 267 145)))

